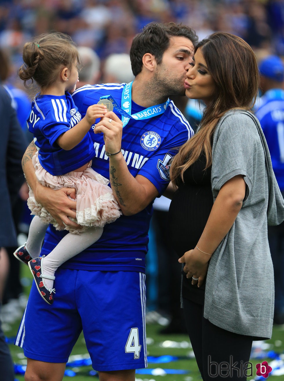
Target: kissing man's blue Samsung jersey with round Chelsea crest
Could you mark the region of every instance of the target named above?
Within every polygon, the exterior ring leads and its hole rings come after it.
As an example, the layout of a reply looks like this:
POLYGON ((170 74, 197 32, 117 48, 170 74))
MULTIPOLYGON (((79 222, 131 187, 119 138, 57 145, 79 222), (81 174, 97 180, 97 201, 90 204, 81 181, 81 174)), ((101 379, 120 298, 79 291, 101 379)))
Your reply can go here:
MULTIPOLYGON (((72 98, 83 117, 87 108, 96 104, 101 96, 110 94, 121 104, 124 85, 85 85, 77 89, 72 98)), ((132 101, 132 114, 143 109, 132 101)), ((121 115, 117 115, 121 119, 121 115)), ((94 126, 91 131, 93 128, 94 126)), ((191 136, 192 128, 172 101, 164 114, 144 120, 130 119, 122 130, 122 154, 128 170, 134 177, 137 174, 146 177, 161 195, 170 180, 170 159, 191 136)), ((91 133, 91 138, 95 149, 92 168, 109 179, 109 158, 105 154, 103 134, 91 133)), ((136 215, 120 216, 104 227, 103 235, 94 245, 62 266, 72 269, 144 272, 151 215, 152 203, 136 215)), ((42 254, 50 252, 64 234, 50 226, 42 254)))

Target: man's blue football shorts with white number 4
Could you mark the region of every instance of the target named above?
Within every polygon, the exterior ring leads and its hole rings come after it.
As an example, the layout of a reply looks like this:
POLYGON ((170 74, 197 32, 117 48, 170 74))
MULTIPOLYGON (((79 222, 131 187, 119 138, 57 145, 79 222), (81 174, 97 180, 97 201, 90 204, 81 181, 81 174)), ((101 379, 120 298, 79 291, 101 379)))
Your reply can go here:
POLYGON ((15 341, 26 357, 65 363, 83 330, 96 371, 147 367, 144 274, 58 269, 55 289, 50 306, 33 282, 15 341))

